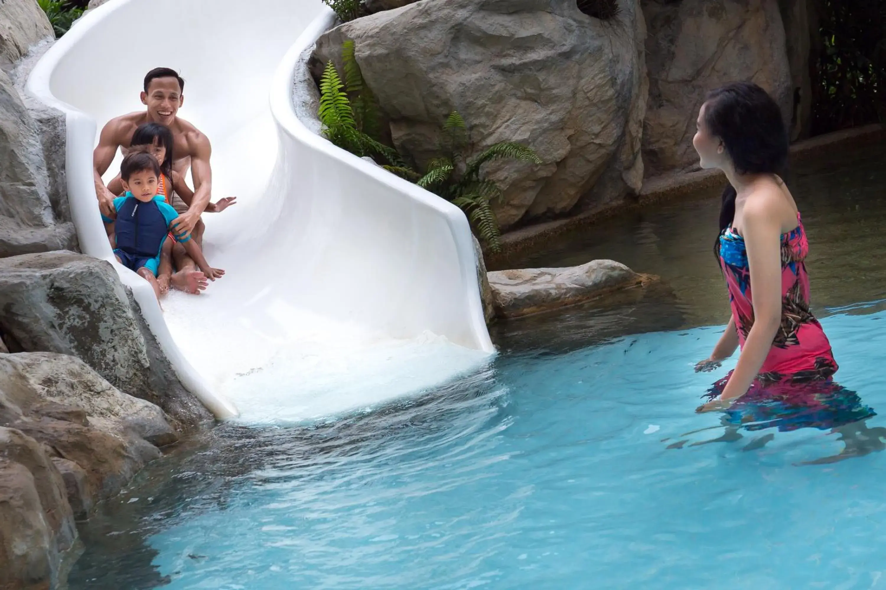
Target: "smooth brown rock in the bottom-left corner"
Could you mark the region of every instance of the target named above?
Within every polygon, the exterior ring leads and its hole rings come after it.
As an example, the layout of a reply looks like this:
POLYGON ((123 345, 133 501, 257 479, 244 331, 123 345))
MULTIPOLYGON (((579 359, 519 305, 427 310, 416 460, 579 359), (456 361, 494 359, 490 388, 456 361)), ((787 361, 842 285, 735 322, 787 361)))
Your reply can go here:
POLYGON ((44 449, 0 426, 0 588, 56 587, 77 538, 65 482, 44 449))

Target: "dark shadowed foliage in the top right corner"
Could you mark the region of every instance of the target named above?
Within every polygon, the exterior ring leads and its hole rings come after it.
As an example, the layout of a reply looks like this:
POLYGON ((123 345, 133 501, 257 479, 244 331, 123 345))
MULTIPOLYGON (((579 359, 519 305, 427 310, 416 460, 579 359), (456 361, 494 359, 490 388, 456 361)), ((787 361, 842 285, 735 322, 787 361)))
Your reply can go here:
POLYGON ((886 3, 824 0, 812 134, 886 121, 886 3))

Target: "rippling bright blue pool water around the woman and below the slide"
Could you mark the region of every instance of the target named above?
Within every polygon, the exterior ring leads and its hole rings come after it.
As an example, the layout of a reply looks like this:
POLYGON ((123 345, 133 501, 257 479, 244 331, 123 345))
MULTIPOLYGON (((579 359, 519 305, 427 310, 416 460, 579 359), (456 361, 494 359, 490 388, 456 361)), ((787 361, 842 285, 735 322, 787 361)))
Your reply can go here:
MULTIPOLYGON (((874 411, 884 318, 823 321, 837 380, 874 411)), ((727 433, 694 413, 728 368, 692 370, 718 337, 515 349, 381 410, 223 426, 115 501, 72 586, 886 587, 882 416, 727 433)))

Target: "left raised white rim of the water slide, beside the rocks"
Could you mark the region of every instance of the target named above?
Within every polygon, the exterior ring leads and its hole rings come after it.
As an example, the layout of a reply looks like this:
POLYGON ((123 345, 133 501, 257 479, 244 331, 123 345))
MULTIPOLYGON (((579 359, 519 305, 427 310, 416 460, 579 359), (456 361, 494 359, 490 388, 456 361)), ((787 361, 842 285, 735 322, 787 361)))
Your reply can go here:
POLYGON ((119 5, 119 3, 104 4, 83 16, 76 26, 58 39, 37 62, 31 75, 28 76, 25 89, 28 94, 45 105, 65 114, 65 172, 68 203, 82 253, 113 264, 123 285, 132 289, 132 295, 142 311, 144 321, 157 339, 183 387, 197 397, 215 418, 220 420, 235 418, 238 412, 234 404, 215 394, 206 380, 188 362, 181 349, 176 346, 172 334, 169 333, 166 320, 163 319, 163 312, 160 310, 152 287, 135 272, 119 264, 113 256, 111 246, 105 238, 105 227, 98 215, 96 190, 92 175, 92 151, 95 148, 97 132, 96 121, 70 104, 58 100, 52 95, 50 89, 52 72, 66 51, 73 47, 81 37, 89 34, 90 28, 95 27, 104 15, 114 11, 119 5))

